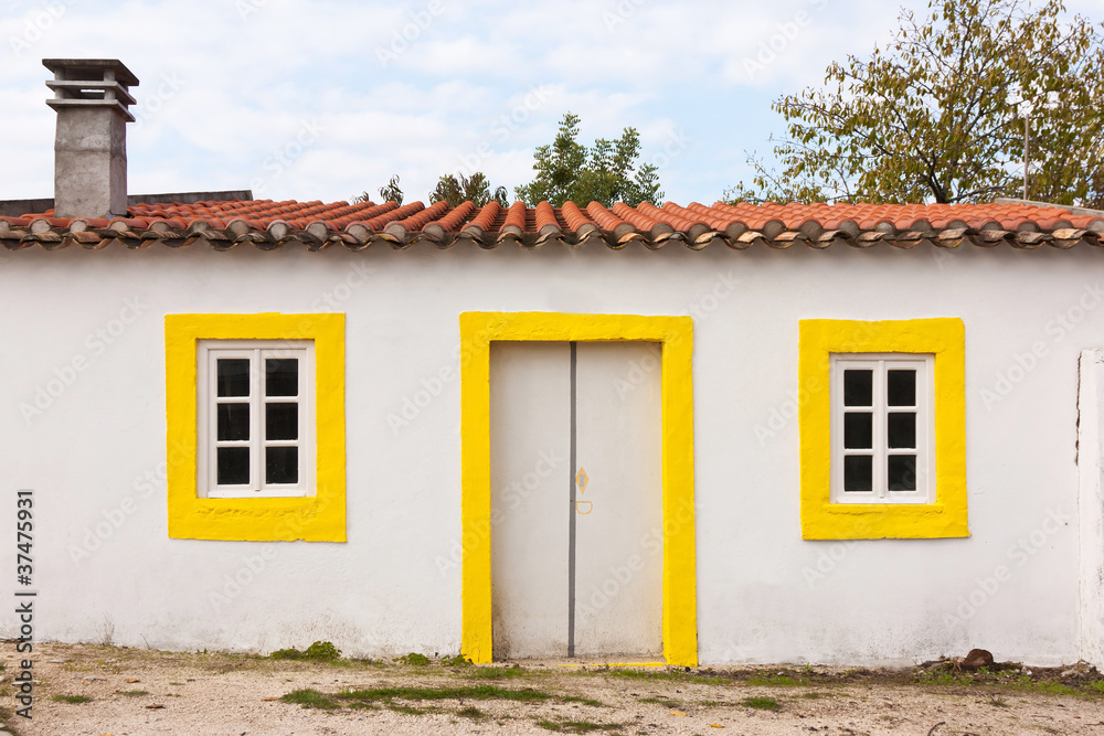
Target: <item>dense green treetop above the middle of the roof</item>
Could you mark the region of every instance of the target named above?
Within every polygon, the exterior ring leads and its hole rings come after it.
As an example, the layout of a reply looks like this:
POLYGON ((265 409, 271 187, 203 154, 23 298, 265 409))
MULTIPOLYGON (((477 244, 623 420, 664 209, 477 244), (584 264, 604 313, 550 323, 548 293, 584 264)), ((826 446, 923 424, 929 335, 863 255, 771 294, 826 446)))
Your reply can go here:
POLYGON ((598 138, 587 149, 580 143, 580 117, 566 113, 560 121, 560 132, 551 145, 540 146, 533 153, 537 178, 514 194, 529 206, 548 201, 561 206, 567 200, 586 205, 601 202, 611 206, 625 202, 659 204, 659 174, 651 163, 637 164, 640 157, 640 134, 625 128, 617 140, 598 138))

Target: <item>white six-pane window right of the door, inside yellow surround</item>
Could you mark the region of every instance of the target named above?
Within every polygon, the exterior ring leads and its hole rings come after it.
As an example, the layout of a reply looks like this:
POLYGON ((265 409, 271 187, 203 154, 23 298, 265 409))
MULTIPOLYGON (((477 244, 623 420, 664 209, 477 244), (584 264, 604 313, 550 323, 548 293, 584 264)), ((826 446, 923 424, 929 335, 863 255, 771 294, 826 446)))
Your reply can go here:
POLYGON ((933 355, 831 355, 832 503, 934 503, 933 355))

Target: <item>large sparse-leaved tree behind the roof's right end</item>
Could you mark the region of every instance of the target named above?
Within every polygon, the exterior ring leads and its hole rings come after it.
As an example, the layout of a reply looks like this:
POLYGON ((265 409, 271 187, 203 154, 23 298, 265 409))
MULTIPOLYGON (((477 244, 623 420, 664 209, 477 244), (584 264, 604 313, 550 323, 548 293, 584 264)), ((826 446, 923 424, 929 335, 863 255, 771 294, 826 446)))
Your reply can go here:
POLYGON ((1104 206, 1104 44, 1062 0, 931 0, 896 40, 832 63, 825 88, 773 108, 781 172, 749 156, 730 201, 966 202, 1027 195, 1104 206))

